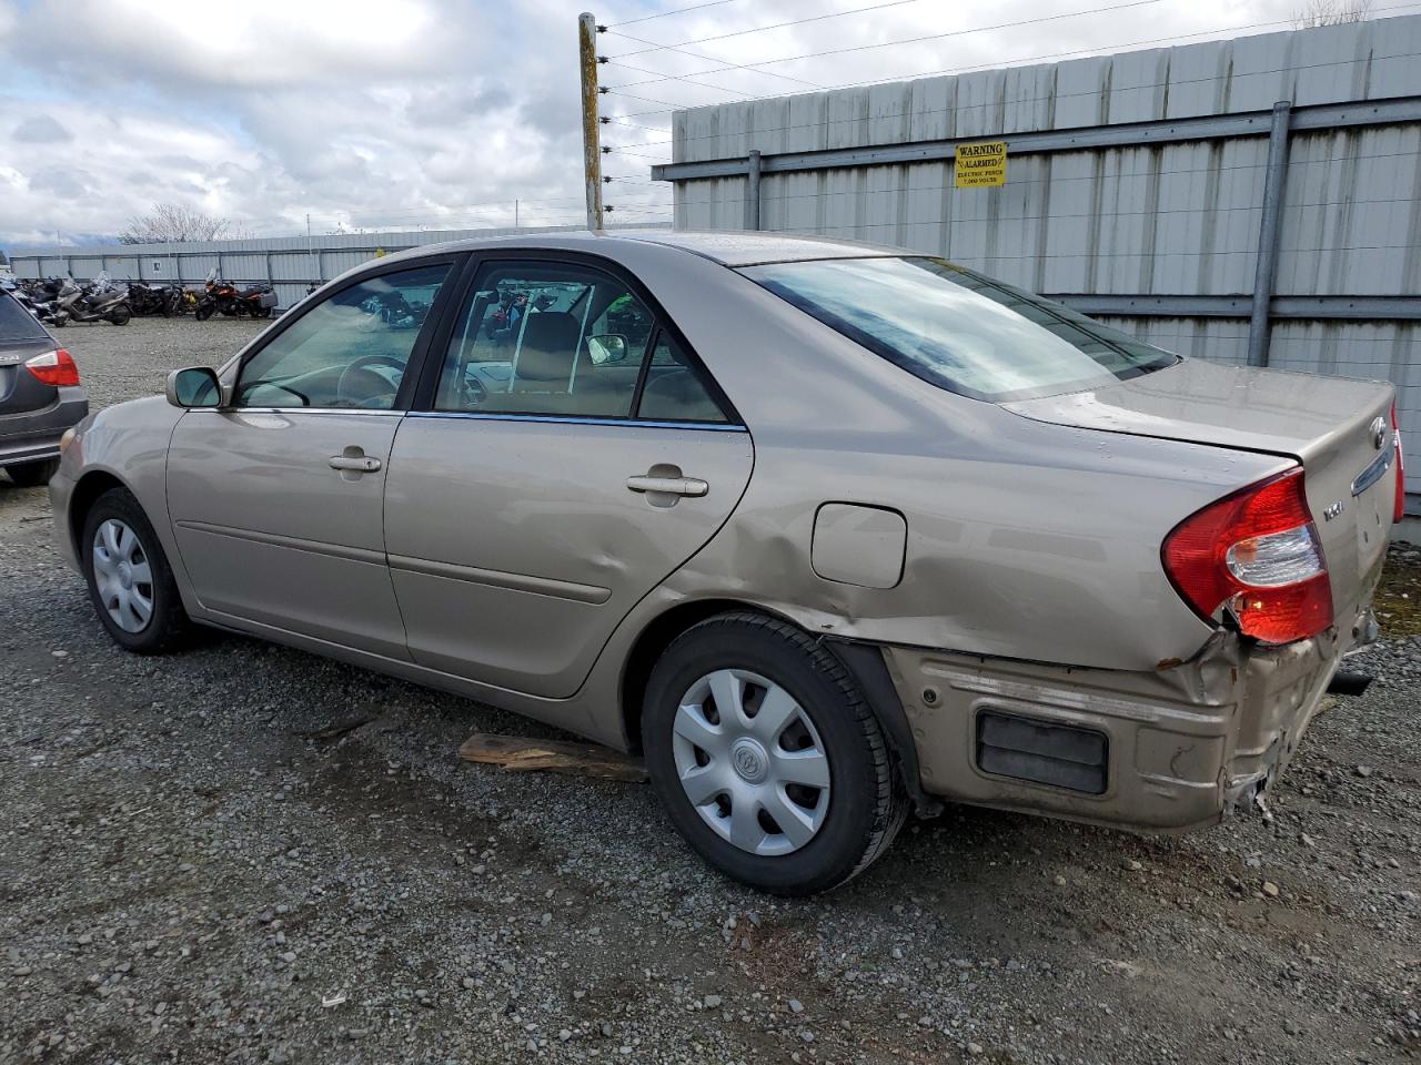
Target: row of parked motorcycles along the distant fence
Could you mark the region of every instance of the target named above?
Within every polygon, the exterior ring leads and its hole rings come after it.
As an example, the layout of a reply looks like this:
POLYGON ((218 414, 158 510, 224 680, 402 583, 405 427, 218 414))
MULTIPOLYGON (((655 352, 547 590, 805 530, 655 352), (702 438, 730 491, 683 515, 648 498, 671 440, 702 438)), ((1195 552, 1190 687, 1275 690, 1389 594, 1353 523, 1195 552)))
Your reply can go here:
MULTIPOLYGON (((9 287, 9 285, 7 285, 9 287)), ((215 314, 227 318, 270 318, 277 307, 271 285, 239 288, 217 277, 213 270, 202 288, 169 284, 114 283, 107 271, 88 283, 72 277, 48 277, 38 281, 18 281, 13 295, 43 324, 60 328, 70 322, 111 322, 128 325, 134 315, 162 315, 171 318, 192 314, 205 322, 215 314)))

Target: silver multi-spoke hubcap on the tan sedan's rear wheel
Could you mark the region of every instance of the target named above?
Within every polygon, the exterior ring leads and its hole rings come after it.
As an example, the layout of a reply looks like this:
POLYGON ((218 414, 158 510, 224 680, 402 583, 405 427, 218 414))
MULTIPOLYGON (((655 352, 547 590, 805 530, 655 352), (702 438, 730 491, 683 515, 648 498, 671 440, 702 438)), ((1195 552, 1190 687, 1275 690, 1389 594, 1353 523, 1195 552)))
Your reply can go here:
POLYGON ((708 673, 681 697, 674 727, 681 787, 723 839, 753 855, 787 855, 824 825, 824 744, 774 682, 743 669, 708 673))

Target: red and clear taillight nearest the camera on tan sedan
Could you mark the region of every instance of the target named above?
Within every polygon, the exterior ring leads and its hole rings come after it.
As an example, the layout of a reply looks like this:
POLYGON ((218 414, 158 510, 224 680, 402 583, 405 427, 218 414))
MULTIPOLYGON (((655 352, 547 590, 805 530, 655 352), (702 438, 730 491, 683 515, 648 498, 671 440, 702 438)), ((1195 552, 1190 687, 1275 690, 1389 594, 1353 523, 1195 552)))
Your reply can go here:
POLYGON ((1164 569, 1202 618, 1228 609, 1246 636, 1292 643, 1331 625, 1331 584, 1303 470, 1225 496, 1165 537, 1164 569))

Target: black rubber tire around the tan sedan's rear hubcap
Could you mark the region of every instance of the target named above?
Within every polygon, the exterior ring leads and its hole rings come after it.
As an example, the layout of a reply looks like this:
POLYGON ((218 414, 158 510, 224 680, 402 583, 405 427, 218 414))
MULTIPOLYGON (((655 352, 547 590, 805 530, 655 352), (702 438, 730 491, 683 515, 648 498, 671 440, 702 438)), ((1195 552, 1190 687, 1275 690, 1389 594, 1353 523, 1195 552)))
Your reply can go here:
POLYGON ((723 613, 678 636, 647 684, 642 746, 651 782, 676 831, 708 863, 774 895, 830 890, 867 869, 902 828, 902 792, 878 720, 844 665, 804 632, 757 613, 723 613), (719 669, 749 670, 783 687, 811 720, 828 760, 830 799, 797 851, 743 851, 712 829, 681 785, 672 728, 682 696, 719 669))

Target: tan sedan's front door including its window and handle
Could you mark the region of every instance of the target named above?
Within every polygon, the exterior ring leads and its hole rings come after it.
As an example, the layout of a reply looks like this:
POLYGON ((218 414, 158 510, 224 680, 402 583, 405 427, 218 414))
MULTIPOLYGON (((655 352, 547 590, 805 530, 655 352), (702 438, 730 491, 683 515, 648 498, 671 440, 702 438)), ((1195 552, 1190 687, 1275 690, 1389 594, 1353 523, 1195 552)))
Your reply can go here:
POLYGON ((244 358, 230 406, 178 423, 168 510, 205 608, 408 659, 384 491, 405 369, 449 268, 335 291, 244 358))

